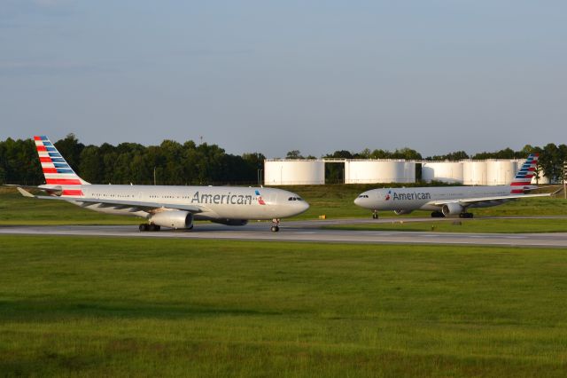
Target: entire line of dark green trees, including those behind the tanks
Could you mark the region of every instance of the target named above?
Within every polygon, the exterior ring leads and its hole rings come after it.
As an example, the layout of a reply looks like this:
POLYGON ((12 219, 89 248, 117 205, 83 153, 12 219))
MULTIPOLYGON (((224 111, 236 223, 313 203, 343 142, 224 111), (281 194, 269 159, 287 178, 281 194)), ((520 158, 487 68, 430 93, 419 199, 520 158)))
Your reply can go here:
MULTIPOLYGON (((197 145, 189 140, 181 144, 164 140, 159 146, 120 143, 113 146, 85 146, 74 136, 54 143, 74 171, 95 184, 152 185, 255 185, 265 156, 260 153, 227 154, 217 145, 197 145)), ((493 153, 469 155, 464 151, 423 158, 411 148, 394 151, 366 148, 360 153, 346 150, 326 154, 323 158, 338 159, 406 159, 427 161, 460 161, 463 159, 524 159, 528 154, 540 154, 540 169, 553 182, 563 179, 563 162, 567 161, 567 146, 550 143, 546 146, 524 146, 520 151, 505 148, 493 153)), ((290 151, 288 159, 304 157, 298 150, 290 151)), ((330 182, 340 182, 340 167, 327 164, 330 182), (336 180, 335 180, 336 178, 336 180)), ((44 182, 32 139, 7 138, 0 141, 0 184, 40 185, 44 182)))

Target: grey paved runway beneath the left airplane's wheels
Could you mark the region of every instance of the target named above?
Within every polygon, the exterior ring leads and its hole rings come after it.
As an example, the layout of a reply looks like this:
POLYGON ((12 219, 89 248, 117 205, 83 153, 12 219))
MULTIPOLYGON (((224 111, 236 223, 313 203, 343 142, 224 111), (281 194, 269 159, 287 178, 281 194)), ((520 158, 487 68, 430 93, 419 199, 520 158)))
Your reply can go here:
MULTIPOLYGON (((428 219, 428 218, 425 218, 428 219)), ((418 222, 421 218, 404 219, 418 222)), ((365 244, 482 245, 508 247, 567 248, 567 232, 561 233, 465 233, 465 232, 379 232, 322 229, 329 224, 392 222, 392 219, 297 221, 283 223, 280 232, 270 232, 269 223, 245 226, 196 224, 191 231, 139 232, 136 225, 4 225, 4 235, 97 236, 154 239, 266 240, 365 244)))

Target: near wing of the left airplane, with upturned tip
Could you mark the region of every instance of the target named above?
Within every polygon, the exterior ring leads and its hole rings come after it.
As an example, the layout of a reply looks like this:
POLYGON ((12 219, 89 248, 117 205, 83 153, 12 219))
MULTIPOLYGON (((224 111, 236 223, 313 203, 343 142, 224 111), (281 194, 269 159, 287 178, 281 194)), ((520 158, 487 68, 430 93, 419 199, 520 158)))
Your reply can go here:
POLYGON ((189 211, 191 213, 200 213, 206 210, 194 205, 182 205, 182 204, 174 204, 174 203, 103 200, 98 198, 83 198, 83 197, 74 197, 74 196, 57 197, 51 195, 34 195, 32 193, 27 192, 27 190, 22 189, 21 187, 17 187, 17 189, 18 192, 21 193, 24 197, 33 197, 33 198, 38 198, 40 200, 76 201, 76 202, 84 203, 85 205, 100 204, 108 208, 110 207, 121 208, 121 209, 131 208, 133 209, 133 211, 142 210, 142 211, 151 212, 151 210, 155 210, 155 209, 177 209, 177 210, 189 211))

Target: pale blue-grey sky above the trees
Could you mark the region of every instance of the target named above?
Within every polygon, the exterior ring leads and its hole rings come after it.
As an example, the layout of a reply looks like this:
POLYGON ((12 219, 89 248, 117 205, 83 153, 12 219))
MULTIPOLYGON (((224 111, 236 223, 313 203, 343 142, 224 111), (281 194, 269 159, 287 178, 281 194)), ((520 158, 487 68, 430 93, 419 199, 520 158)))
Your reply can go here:
POLYGON ((0 0, 0 139, 567 143, 564 0, 0 0))

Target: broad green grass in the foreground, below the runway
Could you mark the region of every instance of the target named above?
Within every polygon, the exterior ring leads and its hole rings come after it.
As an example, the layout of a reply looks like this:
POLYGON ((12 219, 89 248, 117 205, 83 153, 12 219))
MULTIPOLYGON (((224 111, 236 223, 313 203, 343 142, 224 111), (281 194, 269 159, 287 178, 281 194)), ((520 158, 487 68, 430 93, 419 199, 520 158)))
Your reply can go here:
POLYGON ((567 250, 0 237, 0 372, 564 376, 567 250))

